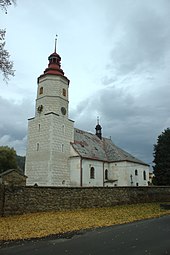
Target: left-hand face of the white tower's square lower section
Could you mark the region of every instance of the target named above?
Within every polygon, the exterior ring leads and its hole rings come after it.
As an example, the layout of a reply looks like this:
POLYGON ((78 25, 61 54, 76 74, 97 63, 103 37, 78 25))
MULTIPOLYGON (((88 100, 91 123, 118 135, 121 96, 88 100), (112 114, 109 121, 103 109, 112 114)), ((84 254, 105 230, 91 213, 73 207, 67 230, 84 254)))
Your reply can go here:
POLYGON ((49 185, 48 162, 50 160, 50 116, 35 118, 28 123, 28 145, 25 173, 27 185, 49 185), (39 126, 40 125, 40 126, 39 126))

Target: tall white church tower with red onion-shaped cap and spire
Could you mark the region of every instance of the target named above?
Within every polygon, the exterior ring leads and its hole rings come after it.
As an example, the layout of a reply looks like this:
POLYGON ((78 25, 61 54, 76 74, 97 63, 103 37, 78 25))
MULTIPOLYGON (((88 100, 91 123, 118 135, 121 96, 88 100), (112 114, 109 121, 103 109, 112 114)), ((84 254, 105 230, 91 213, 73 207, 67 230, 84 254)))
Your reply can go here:
POLYGON ((61 69, 56 40, 48 61, 37 80, 35 117, 28 120, 27 185, 69 186, 68 160, 74 123, 68 119, 69 80, 61 69))

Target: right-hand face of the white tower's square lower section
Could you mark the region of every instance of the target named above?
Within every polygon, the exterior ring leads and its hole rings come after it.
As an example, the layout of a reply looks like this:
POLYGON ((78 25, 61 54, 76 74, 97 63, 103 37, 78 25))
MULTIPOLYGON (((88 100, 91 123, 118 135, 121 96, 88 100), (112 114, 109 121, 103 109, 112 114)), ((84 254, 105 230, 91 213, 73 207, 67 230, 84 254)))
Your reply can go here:
POLYGON ((53 115, 51 140, 52 185, 70 185, 69 156, 73 142, 73 122, 63 116, 53 115))

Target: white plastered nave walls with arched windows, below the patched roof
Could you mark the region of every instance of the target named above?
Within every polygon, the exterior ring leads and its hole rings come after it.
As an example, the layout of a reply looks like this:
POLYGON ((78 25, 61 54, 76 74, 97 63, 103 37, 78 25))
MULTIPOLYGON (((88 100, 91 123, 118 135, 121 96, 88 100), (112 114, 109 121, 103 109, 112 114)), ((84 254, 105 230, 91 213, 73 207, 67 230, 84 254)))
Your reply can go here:
POLYGON ((70 162, 71 186, 148 186, 149 167, 145 165, 127 161, 104 163, 80 157, 73 157, 70 162), (90 176, 92 167, 94 178, 90 176))

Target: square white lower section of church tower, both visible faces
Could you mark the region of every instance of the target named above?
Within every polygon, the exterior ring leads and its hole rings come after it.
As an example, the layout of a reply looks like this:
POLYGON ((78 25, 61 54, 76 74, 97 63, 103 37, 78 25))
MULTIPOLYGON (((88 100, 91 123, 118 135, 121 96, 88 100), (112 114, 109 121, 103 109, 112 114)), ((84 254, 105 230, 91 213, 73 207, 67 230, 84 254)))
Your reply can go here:
POLYGON ((70 185, 68 157, 73 122, 54 114, 43 115, 30 120, 28 130, 27 185, 70 185))

